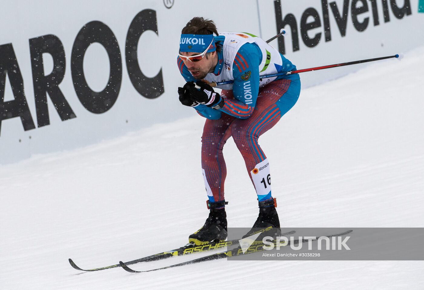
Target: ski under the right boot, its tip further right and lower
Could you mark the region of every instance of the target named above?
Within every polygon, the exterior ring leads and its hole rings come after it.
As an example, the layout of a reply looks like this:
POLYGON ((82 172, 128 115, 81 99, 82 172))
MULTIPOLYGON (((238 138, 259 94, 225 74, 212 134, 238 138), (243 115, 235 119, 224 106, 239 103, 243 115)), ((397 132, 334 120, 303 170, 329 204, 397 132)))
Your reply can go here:
MULTIPOLYGON (((339 234, 331 234, 331 235, 328 235, 326 237, 344 236, 346 234, 351 233, 352 231, 353 230, 349 230, 349 231, 345 231, 345 232, 339 233, 339 234)), ((288 233, 285 233, 285 234, 282 234, 282 235, 286 235, 286 234, 288 234, 288 233)), ((302 239, 302 240, 294 240, 293 242, 294 242, 294 244, 298 244, 298 243, 306 243, 307 241, 308 240, 302 239)), ((290 244, 290 242, 289 242, 289 244, 290 244)), ((262 244, 262 246, 263 246, 263 244, 262 244)), ((233 250, 230 250, 230 251, 225 251, 225 252, 220 252, 220 253, 216 253, 216 254, 211 254, 209 256, 201 257, 201 258, 198 258, 198 259, 193 259, 193 260, 190 260, 190 261, 187 261, 187 262, 182 262, 182 263, 175 264, 175 265, 170 265, 170 266, 156 268, 156 269, 151 269, 151 270, 144 270, 144 271, 133 270, 133 269, 129 268, 126 265, 126 263, 121 262, 121 261, 119 262, 119 264, 127 272, 130 272, 130 273, 144 273, 144 272, 151 272, 151 271, 163 270, 163 269, 168 269, 168 268, 173 268, 173 267, 185 266, 185 265, 190 265, 190 264, 195 264, 195 263, 200 263, 200 262, 206 262, 206 261, 212 261, 212 260, 217 260, 217 259, 223 259, 223 258, 226 258, 226 257, 243 255, 243 252, 240 253, 240 251, 241 251, 241 248, 239 246, 239 247, 237 247, 237 248, 235 248, 233 250)), ((251 254, 251 253, 254 253, 254 252, 256 252, 256 251, 246 252, 246 254, 244 254, 244 255, 251 254)))

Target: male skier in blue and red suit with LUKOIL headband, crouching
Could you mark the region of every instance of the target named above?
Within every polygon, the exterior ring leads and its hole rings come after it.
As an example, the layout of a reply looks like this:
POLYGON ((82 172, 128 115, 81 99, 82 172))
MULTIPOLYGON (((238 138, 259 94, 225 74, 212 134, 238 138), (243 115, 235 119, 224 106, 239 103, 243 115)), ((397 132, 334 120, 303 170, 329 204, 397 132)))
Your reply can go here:
POLYGON ((261 75, 296 70, 296 66, 263 39, 246 32, 218 34, 215 23, 203 17, 194 17, 182 29, 177 63, 187 82, 178 88, 179 100, 206 118, 201 161, 210 212, 204 226, 189 236, 189 243, 204 245, 227 237, 222 150, 231 136, 257 193, 259 216, 253 228, 279 228, 270 166, 258 138, 294 106, 300 78, 298 74, 261 75), (234 83, 219 86, 221 95, 209 85, 230 80, 234 83))

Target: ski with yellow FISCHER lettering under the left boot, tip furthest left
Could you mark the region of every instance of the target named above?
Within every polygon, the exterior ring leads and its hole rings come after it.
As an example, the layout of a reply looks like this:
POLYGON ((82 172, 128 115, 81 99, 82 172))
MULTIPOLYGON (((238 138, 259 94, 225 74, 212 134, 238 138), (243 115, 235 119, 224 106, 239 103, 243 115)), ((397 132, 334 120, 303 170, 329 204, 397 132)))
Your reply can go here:
MULTIPOLYGON (((294 234, 296 231, 289 231, 285 234, 294 234)), ((151 256, 147 256, 147 257, 142 257, 139 259, 135 259, 129 262, 125 262, 125 265, 132 265, 132 264, 136 264, 139 262, 151 262, 151 261, 159 261, 162 259, 168 259, 174 256, 184 256, 184 255, 189 255, 189 254, 195 254, 195 253, 201 253, 201 252, 206 252, 206 251, 213 251, 213 250, 217 250, 220 248, 225 248, 231 245, 238 245, 239 241, 238 240, 229 240, 229 241, 224 241, 221 243, 210 243, 207 245, 192 245, 192 244, 187 244, 181 248, 177 248, 177 249, 173 249, 170 251, 165 251, 162 253, 158 253, 158 254, 154 254, 151 256)), ((110 265, 110 266, 106 266, 106 267, 101 267, 101 268, 93 268, 93 269, 82 269, 80 267, 78 267, 75 262, 72 259, 69 259, 69 263, 71 264, 71 266, 76 269, 76 270, 80 270, 80 271, 86 271, 86 272, 92 272, 92 271, 100 271, 100 270, 106 270, 106 269, 111 269, 111 268, 117 268, 117 267, 121 267, 120 264, 116 264, 116 265, 110 265)))

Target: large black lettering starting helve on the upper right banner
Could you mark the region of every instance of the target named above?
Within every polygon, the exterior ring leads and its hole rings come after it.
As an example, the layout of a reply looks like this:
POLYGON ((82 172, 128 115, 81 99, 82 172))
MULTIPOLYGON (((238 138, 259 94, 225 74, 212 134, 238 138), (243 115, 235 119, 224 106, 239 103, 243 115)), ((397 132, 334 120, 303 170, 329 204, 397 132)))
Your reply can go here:
MULTIPOLYGON (((318 13, 317 8, 307 7, 305 3, 306 9, 303 13, 295 16, 293 13, 290 13, 290 11, 285 11, 284 2, 282 4, 281 0, 275 0, 275 21, 277 31, 280 31, 280 29, 286 26, 290 27, 291 43, 293 52, 295 52, 300 50, 298 27, 300 27, 300 35, 304 44, 307 47, 315 47, 321 42, 323 32, 325 42, 331 41, 332 33, 337 33, 337 29, 335 29, 336 26, 340 35, 343 37, 346 36, 348 19, 352 22, 357 31, 362 32, 369 27, 382 24, 382 20, 384 20, 384 23, 390 22, 393 16, 397 19, 403 19, 405 16, 412 14, 410 0, 404 0, 403 6, 401 7, 399 7, 396 2, 403 1, 381 0, 381 6, 377 6, 377 0, 343 0, 343 6, 339 7, 340 1, 330 2, 329 0, 321 0, 321 7, 319 7, 321 14, 318 13), (380 7, 382 7, 382 9, 380 7), (320 15, 323 15, 323 19, 321 19, 320 15), (310 16, 313 17, 312 22, 308 22, 308 19, 311 19, 310 16), (332 18, 337 25, 333 25, 332 23, 330 26, 330 18, 332 18), (300 23, 298 24, 299 19, 300 23), (372 22, 372 26, 370 22, 372 22), (308 31, 321 26, 323 26, 322 32, 315 33, 315 36, 312 38, 309 37, 308 31)), ((286 53, 285 40, 287 40, 285 37, 278 38, 278 49, 282 54, 286 53)))

